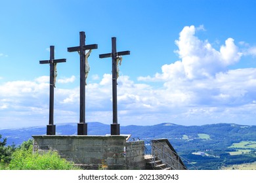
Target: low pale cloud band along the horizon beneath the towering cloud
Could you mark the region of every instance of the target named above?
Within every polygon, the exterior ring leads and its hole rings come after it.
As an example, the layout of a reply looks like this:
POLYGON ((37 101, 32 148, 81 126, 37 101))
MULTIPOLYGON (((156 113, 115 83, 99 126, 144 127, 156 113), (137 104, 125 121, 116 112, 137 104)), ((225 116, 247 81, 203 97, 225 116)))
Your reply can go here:
MULTIPOLYGON (((253 123, 253 111, 256 107, 255 73, 256 69, 236 69, 203 80, 168 80, 162 88, 137 84, 130 80, 129 76, 120 76, 117 86, 119 123, 241 124, 242 121, 238 121, 241 116, 246 119, 244 124, 253 123)), ((47 125, 49 84, 37 80, 41 80, 41 77, 34 81, 9 82, 0 86, 1 122, 15 125, 47 125)), ((111 75, 104 75, 98 83, 87 85, 87 122, 112 123, 111 81, 111 75)), ((79 87, 56 88, 54 91, 54 122, 77 123, 79 87)), ((1 122, 0 125, 3 126, 1 122)))

